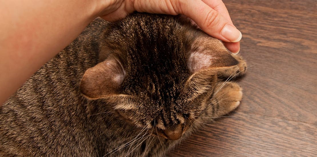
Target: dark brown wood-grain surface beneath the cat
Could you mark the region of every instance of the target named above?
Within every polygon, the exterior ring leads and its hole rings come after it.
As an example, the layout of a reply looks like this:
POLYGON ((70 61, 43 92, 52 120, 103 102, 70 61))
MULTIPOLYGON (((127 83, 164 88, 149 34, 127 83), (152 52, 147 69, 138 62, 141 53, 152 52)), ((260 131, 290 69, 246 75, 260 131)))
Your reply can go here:
POLYGON ((166 156, 317 156, 317 1, 224 0, 249 66, 243 100, 166 156))

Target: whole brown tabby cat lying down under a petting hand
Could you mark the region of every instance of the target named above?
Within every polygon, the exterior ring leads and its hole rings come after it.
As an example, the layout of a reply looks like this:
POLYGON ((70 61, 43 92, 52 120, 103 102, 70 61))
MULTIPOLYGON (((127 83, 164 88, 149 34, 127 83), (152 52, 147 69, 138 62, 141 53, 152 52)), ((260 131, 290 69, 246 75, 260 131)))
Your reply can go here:
POLYGON ((95 19, 0 108, 0 156, 163 156, 240 104, 245 69, 181 16, 95 19))

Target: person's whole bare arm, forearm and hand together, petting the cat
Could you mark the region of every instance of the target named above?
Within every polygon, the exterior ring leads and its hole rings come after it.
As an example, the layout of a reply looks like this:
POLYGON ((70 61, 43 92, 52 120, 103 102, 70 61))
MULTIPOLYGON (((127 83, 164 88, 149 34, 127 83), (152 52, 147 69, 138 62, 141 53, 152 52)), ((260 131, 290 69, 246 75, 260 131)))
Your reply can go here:
POLYGON ((221 0, 0 0, 0 106, 94 18, 116 21, 133 11, 183 14, 239 52, 241 33, 221 0))

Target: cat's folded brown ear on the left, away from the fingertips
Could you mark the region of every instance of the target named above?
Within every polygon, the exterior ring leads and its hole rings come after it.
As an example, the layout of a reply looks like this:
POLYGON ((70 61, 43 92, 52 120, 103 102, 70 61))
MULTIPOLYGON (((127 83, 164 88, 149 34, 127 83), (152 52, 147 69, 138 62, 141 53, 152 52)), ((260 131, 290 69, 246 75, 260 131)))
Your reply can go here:
POLYGON ((126 76, 121 62, 114 56, 86 70, 80 82, 80 91, 89 99, 117 94, 126 76))

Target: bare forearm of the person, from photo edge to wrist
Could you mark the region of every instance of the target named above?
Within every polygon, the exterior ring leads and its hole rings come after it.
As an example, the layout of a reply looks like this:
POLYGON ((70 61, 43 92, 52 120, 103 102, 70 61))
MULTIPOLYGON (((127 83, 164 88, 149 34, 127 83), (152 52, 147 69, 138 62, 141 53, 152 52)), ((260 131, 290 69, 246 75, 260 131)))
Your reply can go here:
POLYGON ((10 0, 0 10, 0 106, 98 16, 85 0, 10 0))

